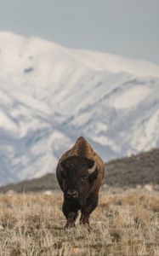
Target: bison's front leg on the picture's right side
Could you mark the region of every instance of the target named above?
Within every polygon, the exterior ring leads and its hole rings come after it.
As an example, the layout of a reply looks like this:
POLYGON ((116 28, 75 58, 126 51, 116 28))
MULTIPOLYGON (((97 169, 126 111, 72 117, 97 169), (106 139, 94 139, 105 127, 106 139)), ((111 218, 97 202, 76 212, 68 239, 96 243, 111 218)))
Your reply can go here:
POLYGON ((90 228, 89 216, 90 216, 91 212, 93 212, 94 209, 97 207, 98 201, 99 201, 98 195, 91 195, 88 198, 88 200, 86 202, 86 206, 82 208, 80 224, 88 224, 88 227, 90 228))

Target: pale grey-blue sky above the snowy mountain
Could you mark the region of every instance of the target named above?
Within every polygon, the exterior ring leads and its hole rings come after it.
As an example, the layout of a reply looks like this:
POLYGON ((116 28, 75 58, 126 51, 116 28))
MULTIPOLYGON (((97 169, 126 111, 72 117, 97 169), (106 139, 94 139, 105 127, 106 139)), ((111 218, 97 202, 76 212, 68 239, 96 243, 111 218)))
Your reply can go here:
POLYGON ((0 0, 0 30, 159 65, 159 0, 0 0))

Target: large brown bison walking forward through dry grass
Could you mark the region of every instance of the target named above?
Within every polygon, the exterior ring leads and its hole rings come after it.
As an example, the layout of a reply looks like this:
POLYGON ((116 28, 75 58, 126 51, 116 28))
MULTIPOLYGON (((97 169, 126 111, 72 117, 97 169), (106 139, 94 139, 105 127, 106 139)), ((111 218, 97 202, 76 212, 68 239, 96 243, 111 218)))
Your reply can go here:
POLYGON ((61 156, 56 177, 64 193, 62 211, 67 219, 65 228, 75 226, 79 210, 80 224, 89 226, 90 213, 98 205, 104 172, 103 160, 84 137, 79 137, 75 145, 61 156))

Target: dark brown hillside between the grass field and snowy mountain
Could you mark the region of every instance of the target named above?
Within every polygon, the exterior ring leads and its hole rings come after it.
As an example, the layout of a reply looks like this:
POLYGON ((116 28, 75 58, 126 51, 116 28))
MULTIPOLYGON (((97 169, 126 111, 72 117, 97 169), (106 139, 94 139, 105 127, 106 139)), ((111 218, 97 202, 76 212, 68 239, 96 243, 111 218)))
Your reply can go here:
MULTIPOLYGON (((105 164, 104 183, 115 187, 135 187, 146 183, 159 184, 159 149, 111 160, 105 164)), ((54 173, 0 188, 0 192, 13 189, 17 192, 59 189, 54 173)))

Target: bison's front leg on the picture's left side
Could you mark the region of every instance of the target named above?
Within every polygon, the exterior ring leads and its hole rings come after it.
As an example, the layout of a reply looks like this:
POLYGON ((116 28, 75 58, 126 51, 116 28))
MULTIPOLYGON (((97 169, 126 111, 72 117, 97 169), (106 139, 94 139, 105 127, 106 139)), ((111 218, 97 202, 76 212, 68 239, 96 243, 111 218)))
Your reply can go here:
POLYGON ((65 218, 67 219, 65 228, 68 229, 68 228, 74 227, 78 212, 71 212, 67 201, 64 201, 63 203, 62 212, 64 212, 65 218))

